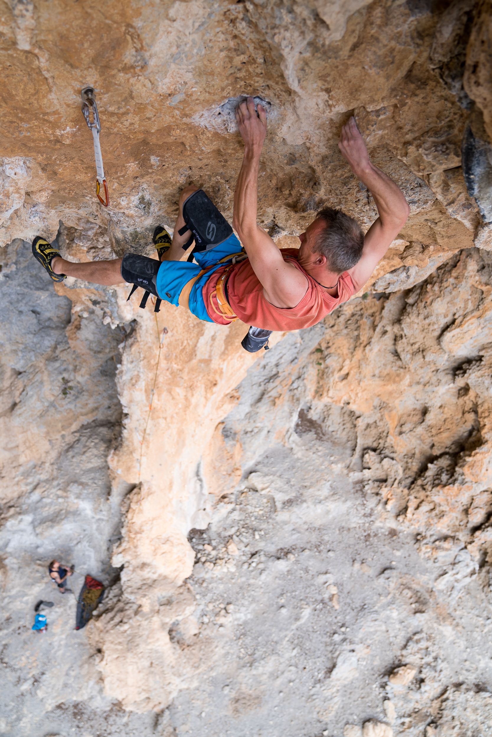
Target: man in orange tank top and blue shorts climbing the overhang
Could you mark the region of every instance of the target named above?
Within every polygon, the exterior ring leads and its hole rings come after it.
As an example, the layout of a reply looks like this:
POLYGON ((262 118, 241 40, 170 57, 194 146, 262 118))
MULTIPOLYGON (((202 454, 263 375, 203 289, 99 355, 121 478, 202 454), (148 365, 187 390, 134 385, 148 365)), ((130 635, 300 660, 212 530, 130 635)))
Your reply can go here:
POLYGON ((339 149, 373 195, 378 219, 364 236, 352 217, 341 210, 322 209, 299 236, 299 250, 279 250, 257 224, 266 111, 261 105, 256 111, 253 98, 248 97, 238 105, 236 118, 244 158, 232 225, 240 241, 203 190, 187 186, 179 198, 172 242, 162 226, 154 232, 159 261, 126 254, 122 259, 76 264, 61 258, 40 236, 32 242, 35 258, 56 282, 66 276, 106 286, 128 282, 156 296, 156 310, 163 299, 188 307, 201 320, 226 325, 238 318, 267 335, 321 321, 364 286, 406 222, 409 206, 401 189, 370 162, 352 117, 342 128, 339 149), (196 263, 180 260, 184 250, 196 263))

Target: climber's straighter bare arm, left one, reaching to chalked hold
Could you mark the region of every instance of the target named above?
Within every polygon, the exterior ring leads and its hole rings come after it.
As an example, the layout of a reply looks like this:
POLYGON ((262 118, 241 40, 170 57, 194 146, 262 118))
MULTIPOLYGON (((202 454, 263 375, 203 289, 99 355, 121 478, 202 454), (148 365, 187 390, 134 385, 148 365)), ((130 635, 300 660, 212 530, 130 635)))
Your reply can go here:
POLYGON ((238 232, 254 273, 263 284, 265 298, 275 307, 296 307, 308 289, 308 280, 295 266, 285 262, 271 237, 257 224, 258 172, 266 136, 266 112, 252 97, 236 111, 244 141, 243 165, 234 193, 232 225, 238 232))

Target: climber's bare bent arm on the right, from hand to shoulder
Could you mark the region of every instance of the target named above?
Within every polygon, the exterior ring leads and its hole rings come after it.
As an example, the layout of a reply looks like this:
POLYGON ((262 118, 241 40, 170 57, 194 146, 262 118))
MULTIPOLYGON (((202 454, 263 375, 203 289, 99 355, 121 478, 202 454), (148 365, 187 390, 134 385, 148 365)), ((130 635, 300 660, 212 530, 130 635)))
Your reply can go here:
POLYGON ((371 164, 366 144, 358 132, 353 117, 342 128, 339 149, 354 174, 373 195, 379 213, 378 220, 375 220, 364 238, 364 250, 360 261, 349 270, 356 292, 358 292, 403 228, 410 209, 400 187, 378 167, 371 164))

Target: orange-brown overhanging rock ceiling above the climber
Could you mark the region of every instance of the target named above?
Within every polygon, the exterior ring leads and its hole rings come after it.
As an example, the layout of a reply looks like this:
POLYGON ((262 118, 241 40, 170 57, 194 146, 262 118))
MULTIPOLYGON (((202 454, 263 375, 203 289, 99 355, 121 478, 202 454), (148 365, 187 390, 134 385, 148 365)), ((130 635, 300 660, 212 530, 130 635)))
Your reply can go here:
MULTIPOLYGON (((461 144, 472 107, 490 138, 486 2, 432 13, 412 1, 110 1, 96 19, 87 3, 12 0, 0 12, 2 244, 52 240, 61 220, 92 257, 148 251, 190 181, 231 217, 242 153, 232 109, 254 94, 268 108, 259 217, 272 234, 299 233, 326 203, 365 227, 374 219, 336 147, 354 112, 375 163, 409 198, 403 237, 439 252, 471 245, 480 223, 461 144), (108 209, 80 111, 87 84, 108 209)), ((390 252, 381 269, 391 268, 390 252)))

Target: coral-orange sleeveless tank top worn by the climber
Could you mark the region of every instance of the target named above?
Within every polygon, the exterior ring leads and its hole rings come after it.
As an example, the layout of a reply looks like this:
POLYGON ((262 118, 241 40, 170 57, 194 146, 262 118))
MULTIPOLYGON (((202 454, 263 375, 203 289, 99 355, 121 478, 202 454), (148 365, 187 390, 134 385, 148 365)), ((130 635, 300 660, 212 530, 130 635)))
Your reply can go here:
MULTIPOLYGON (((339 276, 338 294, 336 297, 332 297, 299 265, 296 248, 282 248, 280 252, 284 261, 292 262, 308 279, 308 290, 296 307, 274 307, 263 295, 263 286, 254 273, 249 259, 236 264, 229 273, 227 294, 232 310, 238 315, 240 321, 246 323, 246 325, 254 325, 265 330, 277 330, 279 332, 311 327, 311 325, 319 323, 328 315, 328 312, 335 310, 339 304, 346 302, 353 295, 353 282, 347 271, 339 276)), ((221 266, 221 268, 214 271, 204 284, 203 289, 207 313, 210 319, 219 325, 229 325, 230 321, 224 320, 221 315, 217 315, 212 310, 210 295, 212 295, 215 307, 217 307, 215 287, 225 269, 226 266, 221 266)))

